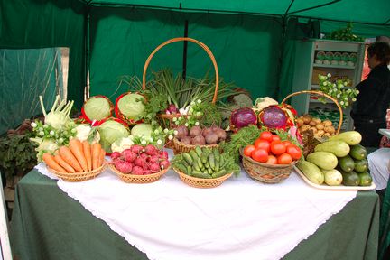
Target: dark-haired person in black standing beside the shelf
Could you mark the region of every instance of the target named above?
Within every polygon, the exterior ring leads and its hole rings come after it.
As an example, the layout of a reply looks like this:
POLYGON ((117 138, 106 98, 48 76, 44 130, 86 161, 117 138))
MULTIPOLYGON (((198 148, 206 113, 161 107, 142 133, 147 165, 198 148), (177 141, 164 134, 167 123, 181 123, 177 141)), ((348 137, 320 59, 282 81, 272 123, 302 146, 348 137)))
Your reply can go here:
POLYGON ((367 48, 367 79, 357 84, 357 101, 352 105, 351 116, 355 130, 366 147, 379 147, 382 135, 380 128, 386 128, 386 109, 390 105, 390 45, 387 42, 374 42, 367 48))

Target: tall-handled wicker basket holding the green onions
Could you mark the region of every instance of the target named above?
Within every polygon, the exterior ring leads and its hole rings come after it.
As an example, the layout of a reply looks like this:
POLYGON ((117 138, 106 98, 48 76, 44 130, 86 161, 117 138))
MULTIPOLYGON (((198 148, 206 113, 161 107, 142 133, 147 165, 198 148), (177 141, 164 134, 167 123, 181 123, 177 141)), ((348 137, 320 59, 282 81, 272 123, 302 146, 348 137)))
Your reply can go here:
MULTIPOLYGON (((204 51, 207 52, 207 54, 209 55, 209 58, 211 59, 213 65, 214 65, 214 70, 215 70, 215 77, 216 77, 216 87, 215 87, 215 90, 214 90, 214 97, 211 101, 212 104, 215 104, 216 101, 217 101, 217 97, 218 97, 218 85, 219 85, 219 74, 218 74, 218 65, 217 65, 217 61, 215 60, 214 58, 214 55, 212 54, 212 52, 209 50, 209 47, 207 45, 205 45, 204 43, 202 42, 199 42, 195 39, 192 39, 192 38, 188 38, 188 37, 178 37, 178 38, 172 38, 171 40, 168 40, 166 42, 163 42, 162 44, 160 44, 159 46, 157 46, 157 48, 154 49, 154 51, 152 51, 152 53, 149 55, 149 57, 147 58, 147 60, 145 61, 145 64, 144 64, 144 73, 143 73, 143 85, 142 85, 142 88, 145 89, 146 88, 146 71, 148 69, 148 66, 154 56, 154 54, 159 51, 160 49, 162 49, 165 45, 168 45, 172 42, 182 42, 182 41, 188 41, 188 42, 194 42, 194 43, 197 43, 198 45, 200 45, 201 48, 203 48, 204 51)), ((180 114, 177 114, 177 115, 167 115, 167 114, 160 114, 158 115, 159 118, 161 118, 162 120, 165 119, 165 120, 169 120, 169 125, 171 126, 172 128, 172 119, 174 117, 180 117, 180 116, 183 116, 183 115, 180 115, 180 114)), ((168 126, 168 125, 165 125, 165 126, 168 126)))

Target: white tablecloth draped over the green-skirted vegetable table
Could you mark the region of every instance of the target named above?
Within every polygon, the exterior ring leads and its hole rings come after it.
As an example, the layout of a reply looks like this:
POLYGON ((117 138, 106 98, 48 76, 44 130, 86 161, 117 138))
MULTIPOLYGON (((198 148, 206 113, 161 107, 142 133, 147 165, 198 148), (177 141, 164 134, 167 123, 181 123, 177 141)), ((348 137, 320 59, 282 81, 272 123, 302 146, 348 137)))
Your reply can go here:
MULTIPOLYGON (((37 169, 55 179, 44 164, 37 169)), ((158 260, 280 259, 357 195, 311 188, 295 172, 278 184, 241 172, 213 189, 187 186, 172 171, 148 184, 125 183, 109 170, 93 180, 57 183, 158 260)))

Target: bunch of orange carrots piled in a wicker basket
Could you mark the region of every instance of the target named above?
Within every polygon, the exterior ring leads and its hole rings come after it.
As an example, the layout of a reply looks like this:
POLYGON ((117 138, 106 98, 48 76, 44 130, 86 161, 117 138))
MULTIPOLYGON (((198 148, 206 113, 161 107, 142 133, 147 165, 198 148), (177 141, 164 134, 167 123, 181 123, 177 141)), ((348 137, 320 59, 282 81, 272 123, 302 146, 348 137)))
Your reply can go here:
POLYGON ((57 172, 89 172, 98 169, 104 162, 106 152, 101 144, 89 144, 71 139, 69 147, 61 146, 54 155, 44 153, 43 162, 57 172))

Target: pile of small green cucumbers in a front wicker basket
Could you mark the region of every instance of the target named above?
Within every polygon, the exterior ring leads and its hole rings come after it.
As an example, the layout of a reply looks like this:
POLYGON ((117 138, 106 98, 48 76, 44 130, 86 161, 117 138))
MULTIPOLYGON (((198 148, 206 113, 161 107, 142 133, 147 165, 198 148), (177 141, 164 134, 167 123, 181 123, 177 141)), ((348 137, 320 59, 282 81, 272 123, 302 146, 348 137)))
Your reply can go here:
POLYGON ((220 153, 218 149, 200 148, 200 146, 189 153, 176 155, 172 167, 202 179, 218 178, 231 172, 237 175, 240 172, 240 166, 235 163, 232 156, 220 153))

